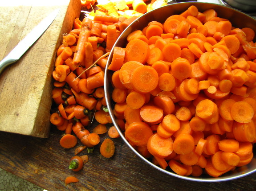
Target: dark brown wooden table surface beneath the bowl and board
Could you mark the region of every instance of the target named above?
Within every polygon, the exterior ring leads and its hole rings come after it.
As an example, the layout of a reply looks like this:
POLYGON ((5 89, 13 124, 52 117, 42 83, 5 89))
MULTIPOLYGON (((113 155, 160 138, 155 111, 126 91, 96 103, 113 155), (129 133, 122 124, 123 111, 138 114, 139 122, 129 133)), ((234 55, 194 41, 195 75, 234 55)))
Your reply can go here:
POLYGON ((96 146, 83 169, 72 172, 68 163, 74 148, 61 148, 58 143, 61 134, 55 127, 47 139, 1 132, 0 168, 48 191, 256 190, 256 173, 218 183, 187 181, 167 175, 135 156, 121 138, 114 140, 116 152, 112 158, 101 157, 96 146), (69 175, 76 176, 80 182, 65 187, 64 180, 69 175))

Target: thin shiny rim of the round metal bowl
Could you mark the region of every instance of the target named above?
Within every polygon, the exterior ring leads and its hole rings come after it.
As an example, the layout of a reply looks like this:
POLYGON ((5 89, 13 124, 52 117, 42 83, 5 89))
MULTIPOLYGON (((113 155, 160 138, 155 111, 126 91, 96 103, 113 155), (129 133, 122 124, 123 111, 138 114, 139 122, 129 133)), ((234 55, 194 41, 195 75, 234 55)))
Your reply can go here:
MULTIPOLYGON (((239 10, 235 9, 235 8, 230 8, 230 7, 227 7, 227 6, 224 6, 224 5, 221 5, 221 4, 214 4, 214 3, 204 3, 204 2, 180 2, 180 3, 173 3, 173 4, 168 4, 168 5, 165 5, 161 8, 164 8, 164 7, 172 7, 172 6, 178 6, 179 4, 187 4, 187 7, 189 7, 190 5, 196 5, 196 4, 212 4, 213 6, 217 6, 217 7, 223 7, 223 8, 227 8, 227 9, 230 9, 234 12, 238 12, 239 14, 244 14, 246 17, 250 17, 251 19, 254 19, 252 18, 251 16, 243 13, 243 12, 240 12, 239 10)), ((158 9, 161 9, 161 8, 158 8, 158 9)), ((130 30, 130 26, 133 25, 133 23, 135 22, 138 22, 139 19, 143 18, 143 17, 146 17, 148 14, 152 13, 152 12, 155 12, 157 9, 154 9, 150 12, 147 12, 145 14, 143 14, 142 16, 138 17, 138 19, 135 19, 123 32, 122 34, 125 34, 126 31, 130 30)), ((170 15, 171 16, 171 15, 170 15)), ((254 19, 256 21, 256 19, 254 19)), ((109 55, 109 58, 107 60, 107 65, 106 65, 106 68, 105 68, 105 78, 104 78, 104 93, 105 93, 105 96, 106 96, 106 104, 107 104, 107 108, 109 110, 109 113, 110 113, 110 117, 112 119, 112 122, 114 124, 114 126, 116 127, 116 129, 118 130, 118 133, 120 134, 122 140, 128 145, 128 147, 136 154, 139 156, 140 159, 142 159, 143 161, 145 161, 147 164, 149 164, 151 167, 153 168, 156 168, 158 169, 159 171, 163 172, 163 173, 166 173, 167 175, 171 175, 171 176, 174 176, 176 178, 180 178, 180 179, 184 179, 184 180, 191 180, 191 181, 195 181, 195 182, 221 182, 221 181, 228 181, 228 180, 233 180, 233 179, 238 179, 238 178, 242 178, 246 175, 250 175, 254 172, 256 172, 256 168, 253 169, 253 170, 250 170, 248 172, 245 172, 245 173, 237 173, 238 175, 229 175, 229 174, 226 174, 225 176, 219 176, 219 177, 195 177, 195 176, 183 176, 183 175, 178 175, 176 174, 175 172, 171 172, 171 171, 167 171, 163 168, 160 168, 159 166, 153 164, 152 162, 150 162, 150 160, 147 160, 145 157, 143 157, 134 147, 131 146, 131 144, 128 142, 128 140, 126 140, 123 132, 121 131, 121 129, 119 128, 119 125, 117 124, 117 122, 115 121, 115 116, 113 114, 113 109, 112 109, 112 106, 111 106, 111 95, 110 95, 110 89, 109 89, 109 86, 111 84, 109 78, 110 78, 110 72, 108 72, 109 70, 107 69, 108 66, 110 65, 110 60, 112 59, 112 56, 113 56, 113 52, 114 52, 114 47, 118 44, 118 41, 122 38, 122 34, 118 37, 118 39, 116 40, 116 42, 114 43, 114 46, 112 48, 112 50, 110 51, 110 55, 109 55)), ((254 158, 253 158, 254 159, 254 158)), ((208 175, 207 175, 208 176, 208 175)))

